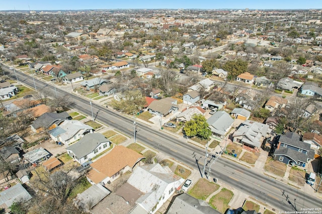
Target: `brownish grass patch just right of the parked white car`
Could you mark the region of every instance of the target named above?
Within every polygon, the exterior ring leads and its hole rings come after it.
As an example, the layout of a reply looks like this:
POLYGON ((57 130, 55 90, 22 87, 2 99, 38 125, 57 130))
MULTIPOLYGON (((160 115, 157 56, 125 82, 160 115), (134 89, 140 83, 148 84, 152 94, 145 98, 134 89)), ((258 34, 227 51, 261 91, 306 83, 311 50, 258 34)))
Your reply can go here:
POLYGON ((207 197, 214 191, 216 191, 219 188, 219 185, 210 182, 205 178, 201 178, 198 180, 198 182, 188 191, 188 193, 201 200, 206 200, 207 197))

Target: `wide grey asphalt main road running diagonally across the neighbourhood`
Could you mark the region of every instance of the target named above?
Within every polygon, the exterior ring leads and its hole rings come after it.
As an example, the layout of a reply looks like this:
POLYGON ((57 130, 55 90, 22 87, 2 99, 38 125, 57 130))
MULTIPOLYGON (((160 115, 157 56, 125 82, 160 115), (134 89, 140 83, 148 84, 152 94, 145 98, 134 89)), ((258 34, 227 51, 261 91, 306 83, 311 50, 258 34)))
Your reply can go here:
MULTIPOLYGON (((6 71, 11 73, 9 75, 11 78, 16 79, 12 70, 6 69, 6 71)), ((33 78, 18 71, 16 73, 20 82, 34 88, 33 78)), ((38 79, 35 79, 35 84, 38 90, 47 87, 53 90, 53 94, 55 93, 54 86, 51 84, 41 82, 38 79)), ((89 116, 92 115, 90 101, 88 99, 70 94, 60 88, 56 88, 56 92, 58 96, 69 95, 70 99, 76 103, 75 109, 77 111, 89 116)), ((97 115, 97 120, 114 127, 127 136, 133 136, 132 117, 123 116, 95 103, 93 103, 93 112, 94 117, 97 115)), ((162 130, 157 130, 154 127, 149 127, 138 121, 136 121, 136 124, 138 126, 137 141, 198 169, 196 160, 192 155, 195 152, 196 158, 199 159, 199 167, 202 171, 202 163, 204 162, 202 157, 205 152, 203 149, 187 143, 182 137, 166 134, 162 130)), ((216 177, 235 189, 243 191, 281 211, 295 209, 301 211, 301 208, 319 208, 322 206, 322 200, 313 195, 309 195, 306 192, 265 176, 255 169, 246 168, 222 157, 219 157, 215 164, 211 166, 211 177, 216 177), (286 196, 288 196, 288 199, 286 196)))

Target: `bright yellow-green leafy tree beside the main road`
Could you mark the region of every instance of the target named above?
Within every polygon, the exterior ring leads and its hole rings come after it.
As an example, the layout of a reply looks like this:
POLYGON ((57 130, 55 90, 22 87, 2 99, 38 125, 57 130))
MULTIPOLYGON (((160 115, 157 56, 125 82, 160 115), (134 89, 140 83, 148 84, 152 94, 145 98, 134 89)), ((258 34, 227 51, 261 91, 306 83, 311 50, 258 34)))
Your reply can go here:
POLYGON ((200 139, 207 139, 211 135, 209 124, 201 114, 194 114, 191 120, 185 123, 183 130, 188 137, 196 136, 200 139))

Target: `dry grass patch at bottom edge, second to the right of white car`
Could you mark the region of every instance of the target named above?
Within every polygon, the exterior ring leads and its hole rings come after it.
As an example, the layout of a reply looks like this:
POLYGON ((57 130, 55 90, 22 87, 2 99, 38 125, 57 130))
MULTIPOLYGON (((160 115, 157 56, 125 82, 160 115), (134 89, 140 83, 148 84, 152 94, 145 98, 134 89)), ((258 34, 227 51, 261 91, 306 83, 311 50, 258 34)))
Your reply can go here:
POLYGON ((222 188, 219 193, 212 196, 209 200, 209 204, 212 208, 217 209, 221 213, 224 213, 229 208, 228 203, 233 196, 232 191, 226 188, 222 188))

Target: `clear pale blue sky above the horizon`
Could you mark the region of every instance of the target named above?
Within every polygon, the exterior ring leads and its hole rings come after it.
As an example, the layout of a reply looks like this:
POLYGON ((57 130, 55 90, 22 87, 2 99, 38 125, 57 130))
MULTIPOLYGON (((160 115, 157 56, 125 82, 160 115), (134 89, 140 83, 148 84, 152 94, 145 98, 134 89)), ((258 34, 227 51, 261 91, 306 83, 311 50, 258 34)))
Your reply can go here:
POLYGON ((0 11, 99 9, 322 9, 321 0, 0 0, 0 11))

